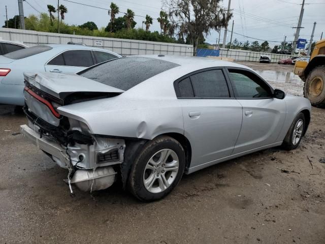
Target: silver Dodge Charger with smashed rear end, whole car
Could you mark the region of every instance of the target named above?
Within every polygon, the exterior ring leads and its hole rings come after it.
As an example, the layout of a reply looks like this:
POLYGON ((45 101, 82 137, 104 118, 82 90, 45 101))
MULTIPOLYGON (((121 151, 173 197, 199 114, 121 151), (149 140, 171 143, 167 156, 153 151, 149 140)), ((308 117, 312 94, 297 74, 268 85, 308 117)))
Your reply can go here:
POLYGON ((204 57, 129 56, 78 74, 25 73, 24 137, 83 191, 115 181, 142 201, 257 150, 295 149, 310 102, 252 69, 204 57))

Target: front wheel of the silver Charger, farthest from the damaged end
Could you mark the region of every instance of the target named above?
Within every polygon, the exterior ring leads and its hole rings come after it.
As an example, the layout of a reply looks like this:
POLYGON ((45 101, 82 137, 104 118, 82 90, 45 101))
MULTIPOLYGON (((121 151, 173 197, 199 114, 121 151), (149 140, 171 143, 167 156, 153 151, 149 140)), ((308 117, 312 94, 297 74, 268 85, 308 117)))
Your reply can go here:
POLYGON ((296 149, 303 137, 305 126, 305 115, 303 113, 299 113, 285 135, 285 138, 281 145, 282 148, 286 150, 296 149))

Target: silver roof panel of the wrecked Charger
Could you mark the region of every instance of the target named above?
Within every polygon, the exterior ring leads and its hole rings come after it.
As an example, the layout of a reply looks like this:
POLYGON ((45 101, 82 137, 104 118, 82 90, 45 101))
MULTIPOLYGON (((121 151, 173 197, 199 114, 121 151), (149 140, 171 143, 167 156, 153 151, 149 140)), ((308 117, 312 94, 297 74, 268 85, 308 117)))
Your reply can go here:
POLYGON ((150 57, 165 60, 179 66, 197 66, 202 68, 210 68, 210 67, 233 67, 233 68, 243 68, 252 70, 251 68, 240 65, 237 63, 218 60, 210 57, 197 57, 197 56, 178 56, 178 55, 138 55, 141 57, 150 57))

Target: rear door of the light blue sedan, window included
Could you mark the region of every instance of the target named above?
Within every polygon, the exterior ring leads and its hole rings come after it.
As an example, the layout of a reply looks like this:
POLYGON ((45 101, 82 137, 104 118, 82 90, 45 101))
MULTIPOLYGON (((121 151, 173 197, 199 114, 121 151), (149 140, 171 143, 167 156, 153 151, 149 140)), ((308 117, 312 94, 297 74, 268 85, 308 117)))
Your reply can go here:
POLYGON ((53 57, 45 65, 46 72, 77 73, 94 65, 91 50, 67 50, 53 57))

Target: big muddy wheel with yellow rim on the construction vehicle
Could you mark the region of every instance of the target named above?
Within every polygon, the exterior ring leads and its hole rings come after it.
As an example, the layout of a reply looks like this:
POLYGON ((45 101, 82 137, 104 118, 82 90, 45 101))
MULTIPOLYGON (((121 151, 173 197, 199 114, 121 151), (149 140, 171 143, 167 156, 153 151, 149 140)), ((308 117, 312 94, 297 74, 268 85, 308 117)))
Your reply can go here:
POLYGON ((310 101, 312 106, 325 106, 325 66, 318 66, 308 74, 304 84, 304 97, 310 101), (319 90, 316 90, 318 85, 315 87, 315 83, 320 84, 320 86, 322 83, 320 93, 319 90))

